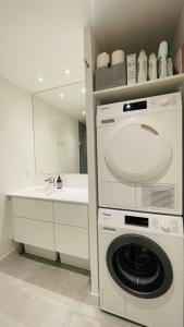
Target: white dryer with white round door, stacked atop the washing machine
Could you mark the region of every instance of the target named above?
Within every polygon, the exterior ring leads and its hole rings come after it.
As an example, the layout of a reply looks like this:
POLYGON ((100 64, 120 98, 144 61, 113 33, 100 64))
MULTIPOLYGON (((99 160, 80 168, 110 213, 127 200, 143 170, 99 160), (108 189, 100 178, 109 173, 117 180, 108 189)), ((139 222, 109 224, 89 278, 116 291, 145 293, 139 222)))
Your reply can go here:
POLYGON ((97 108, 99 207, 182 215, 181 93, 97 108))

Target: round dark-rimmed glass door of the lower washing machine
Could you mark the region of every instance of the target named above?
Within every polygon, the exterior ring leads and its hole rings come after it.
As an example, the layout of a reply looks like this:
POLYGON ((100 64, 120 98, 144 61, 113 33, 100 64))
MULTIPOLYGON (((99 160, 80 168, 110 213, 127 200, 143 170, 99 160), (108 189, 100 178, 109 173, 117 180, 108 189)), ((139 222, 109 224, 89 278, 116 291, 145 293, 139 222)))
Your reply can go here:
POLYGON ((113 280, 138 298, 161 296, 173 280, 165 252, 143 235, 125 234, 114 239, 107 252, 107 266, 113 280))

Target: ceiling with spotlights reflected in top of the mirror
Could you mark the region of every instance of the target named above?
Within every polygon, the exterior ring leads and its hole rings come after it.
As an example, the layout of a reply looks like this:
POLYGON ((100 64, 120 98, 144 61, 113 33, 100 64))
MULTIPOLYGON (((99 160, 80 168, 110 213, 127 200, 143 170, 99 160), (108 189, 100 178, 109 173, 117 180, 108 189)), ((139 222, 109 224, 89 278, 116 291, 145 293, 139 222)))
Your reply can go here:
MULTIPOLYGON (((61 110, 77 121, 86 121, 86 117, 83 114, 83 111, 86 111, 84 82, 36 93, 33 96, 33 102, 35 97, 51 105, 53 108, 61 110)), ((35 102, 35 106, 37 102, 35 102)))

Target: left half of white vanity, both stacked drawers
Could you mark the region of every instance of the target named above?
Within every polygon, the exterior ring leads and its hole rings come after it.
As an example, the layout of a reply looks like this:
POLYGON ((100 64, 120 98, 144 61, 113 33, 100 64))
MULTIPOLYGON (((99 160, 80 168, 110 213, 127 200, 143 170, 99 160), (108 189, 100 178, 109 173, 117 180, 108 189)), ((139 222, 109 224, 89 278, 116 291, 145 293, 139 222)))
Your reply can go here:
POLYGON ((52 202, 13 197, 14 240, 54 251, 52 202))

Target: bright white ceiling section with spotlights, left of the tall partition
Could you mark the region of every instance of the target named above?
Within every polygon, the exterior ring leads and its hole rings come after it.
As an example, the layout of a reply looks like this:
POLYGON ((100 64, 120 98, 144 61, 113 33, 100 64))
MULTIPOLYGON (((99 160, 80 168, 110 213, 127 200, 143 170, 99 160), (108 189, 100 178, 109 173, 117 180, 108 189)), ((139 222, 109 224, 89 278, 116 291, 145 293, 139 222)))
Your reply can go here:
POLYGON ((28 92, 84 81, 88 4, 88 0, 0 0, 0 75, 28 92), (38 82, 40 76, 44 82, 38 82))

